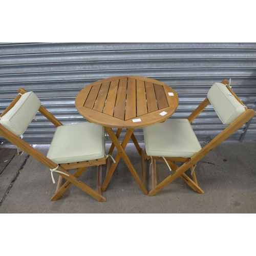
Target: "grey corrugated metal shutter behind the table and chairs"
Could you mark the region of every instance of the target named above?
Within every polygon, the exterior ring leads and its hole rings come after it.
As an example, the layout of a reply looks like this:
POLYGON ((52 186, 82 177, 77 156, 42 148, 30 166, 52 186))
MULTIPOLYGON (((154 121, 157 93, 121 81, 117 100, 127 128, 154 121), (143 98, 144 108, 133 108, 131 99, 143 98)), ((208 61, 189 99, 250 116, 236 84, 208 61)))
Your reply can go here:
MULTIPOLYGON (((253 108, 256 43, 0 44, 0 113, 24 88, 33 90, 63 124, 82 122, 74 104, 77 93, 91 82, 119 75, 151 77, 173 87, 179 96, 175 118, 187 117, 210 86, 224 78, 232 79, 232 90, 253 108)), ((199 139, 215 137, 224 129, 210 106, 193 125, 199 139)), ((231 138, 239 139, 242 131, 243 127, 231 138)), ((54 126, 38 114, 24 140, 48 143, 53 133, 54 126)), ((141 129, 135 135, 143 139, 141 129)), ((245 137, 256 137, 255 117, 245 137)))

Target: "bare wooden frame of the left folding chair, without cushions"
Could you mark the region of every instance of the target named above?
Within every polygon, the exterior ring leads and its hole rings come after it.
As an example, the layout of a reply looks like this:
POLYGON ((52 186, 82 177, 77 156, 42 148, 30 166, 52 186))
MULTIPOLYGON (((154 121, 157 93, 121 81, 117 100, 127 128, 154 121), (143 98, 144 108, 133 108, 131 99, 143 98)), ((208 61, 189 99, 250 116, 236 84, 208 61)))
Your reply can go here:
MULTIPOLYGON (((24 94, 26 91, 23 88, 20 88, 18 90, 18 93, 24 94)), ((18 101, 18 99, 21 97, 21 95, 18 94, 16 98, 11 102, 11 104, 8 106, 8 108, 0 115, 2 117, 5 115, 18 101)), ((44 108, 44 106, 40 106, 38 110, 42 115, 44 115, 49 121, 51 121, 56 127, 62 125, 60 121, 58 121, 47 109, 44 108)), ((18 136, 14 135, 12 132, 10 132, 8 129, 6 129, 3 125, 0 124, 0 135, 3 136, 5 139, 10 141, 12 144, 19 147, 21 150, 26 152, 28 155, 32 156, 42 164, 46 165, 50 169, 56 168, 56 163, 47 158, 45 155, 41 154, 35 148, 33 148, 31 145, 29 145, 24 140, 20 139, 18 136)), ((57 200, 72 184, 82 189, 84 192, 95 198, 96 200, 100 202, 105 202, 106 199, 101 195, 101 166, 102 164, 106 163, 105 157, 102 159, 95 159, 93 161, 83 161, 83 162, 76 162, 76 163, 67 163, 67 164, 59 164, 59 167, 57 170, 59 170, 62 173, 57 173, 60 175, 56 193, 51 198, 51 201, 57 200), (82 175, 82 173, 89 167, 97 165, 97 191, 89 187, 88 185, 84 184, 82 181, 78 180, 79 176, 82 175), (70 174, 67 169, 73 169, 77 168, 75 173, 72 175, 70 174), (62 183, 62 177, 65 178, 67 181, 61 185, 62 183)))

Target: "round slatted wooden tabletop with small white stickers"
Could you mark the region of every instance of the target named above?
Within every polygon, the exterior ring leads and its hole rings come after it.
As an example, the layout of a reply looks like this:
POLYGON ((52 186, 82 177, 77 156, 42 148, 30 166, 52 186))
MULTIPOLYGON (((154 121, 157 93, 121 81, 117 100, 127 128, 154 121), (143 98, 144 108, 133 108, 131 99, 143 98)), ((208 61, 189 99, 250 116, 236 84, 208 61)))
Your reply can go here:
POLYGON ((155 79, 117 76, 89 84, 78 93, 75 105, 89 122, 129 129, 163 122, 176 111, 178 96, 155 79))

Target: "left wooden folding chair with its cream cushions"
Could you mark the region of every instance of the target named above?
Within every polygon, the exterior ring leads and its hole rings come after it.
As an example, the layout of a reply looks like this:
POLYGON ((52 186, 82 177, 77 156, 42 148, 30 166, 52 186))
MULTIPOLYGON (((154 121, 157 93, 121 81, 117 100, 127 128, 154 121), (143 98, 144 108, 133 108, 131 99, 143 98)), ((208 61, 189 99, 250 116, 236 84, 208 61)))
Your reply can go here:
POLYGON ((0 135, 49 167, 53 181, 53 172, 60 175, 56 193, 51 201, 57 200, 74 184, 98 201, 105 202, 106 199, 101 195, 101 166, 106 163, 104 127, 89 122, 62 125, 41 105, 33 92, 19 89, 18 93, 0 116, 0 135), (37 111, 57 127, 47 156, 19 138, 23 136, 37 111), (97 191, 78 180, 89 166, 94 165, 98 166, 97 191), (67 169, 73 168, 77 170, 72 175, 67 169), (62 177, 67 180, 63 185, 61 185, 62 177))

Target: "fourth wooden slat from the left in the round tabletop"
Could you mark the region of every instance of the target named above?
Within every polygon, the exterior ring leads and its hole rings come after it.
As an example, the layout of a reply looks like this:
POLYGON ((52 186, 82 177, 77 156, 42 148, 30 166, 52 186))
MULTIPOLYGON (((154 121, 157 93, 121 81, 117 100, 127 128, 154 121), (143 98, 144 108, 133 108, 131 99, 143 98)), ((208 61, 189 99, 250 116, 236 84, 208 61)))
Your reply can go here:
POLYGON ((119 80, 114 117, 124 120, 127 78, 119 80))

